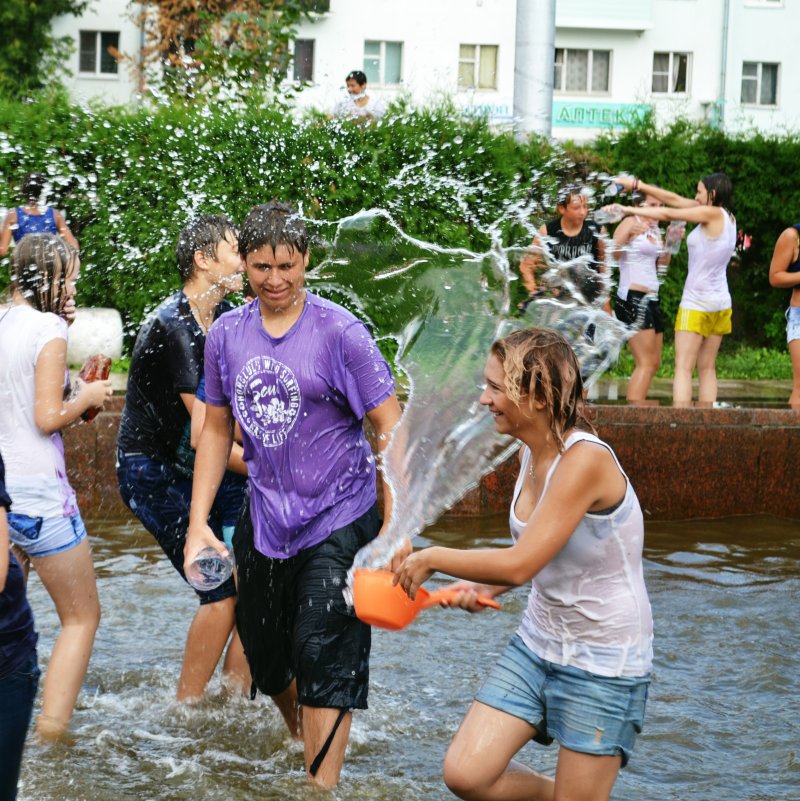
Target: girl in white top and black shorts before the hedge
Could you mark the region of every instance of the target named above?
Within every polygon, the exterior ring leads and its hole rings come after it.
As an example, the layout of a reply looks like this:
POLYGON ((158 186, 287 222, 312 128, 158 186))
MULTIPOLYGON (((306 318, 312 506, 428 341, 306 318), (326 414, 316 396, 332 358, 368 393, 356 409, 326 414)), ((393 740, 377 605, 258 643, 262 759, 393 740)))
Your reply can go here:
MULTIPOLYGON (((645 195, 642 207, 661 206, 661 201, 645 195)), ((664 347, 664 317, 658 302, 661 284, 658 268, 669 265, 658 225, 638 215, 624 219, 614 231, 614 255, 619 264, 619 285, 614 314, 635 329, 628 347, 634 360, 626 398, 638 403, 647 398, 653 377, 661 367, 664 347)))

